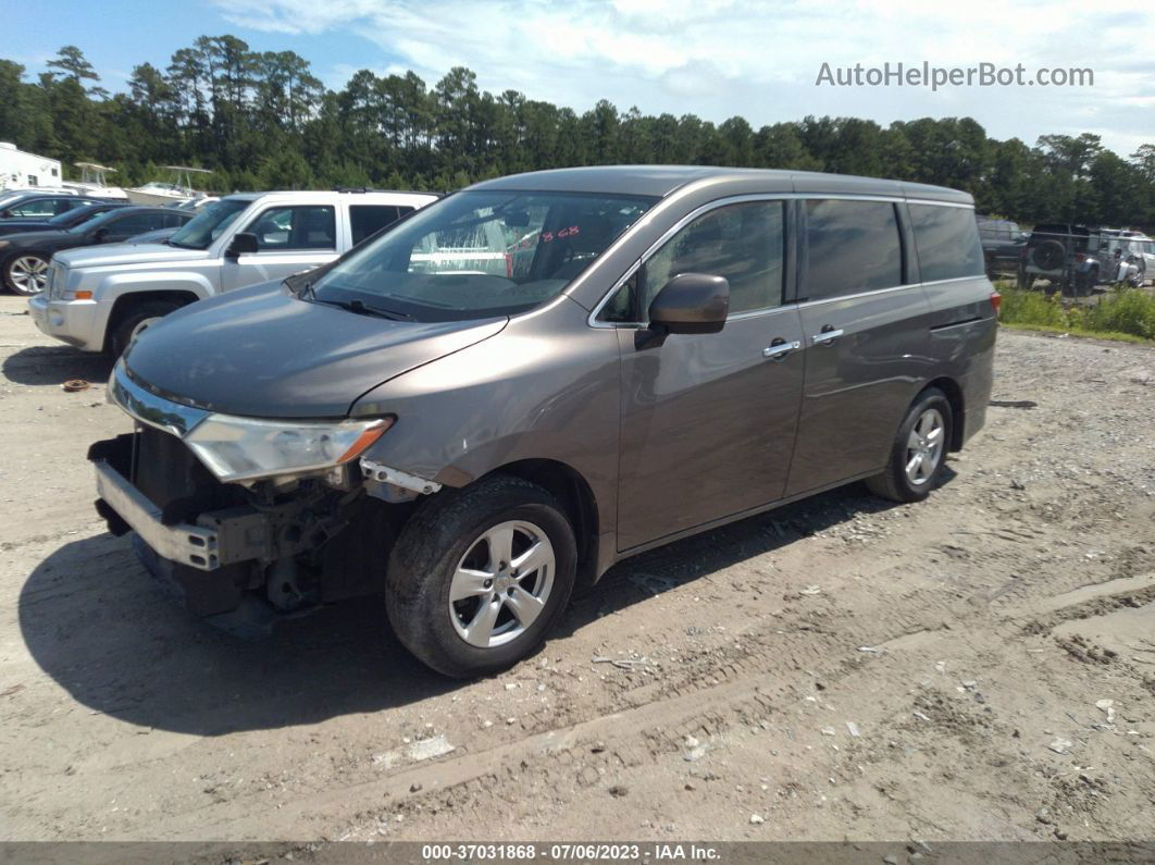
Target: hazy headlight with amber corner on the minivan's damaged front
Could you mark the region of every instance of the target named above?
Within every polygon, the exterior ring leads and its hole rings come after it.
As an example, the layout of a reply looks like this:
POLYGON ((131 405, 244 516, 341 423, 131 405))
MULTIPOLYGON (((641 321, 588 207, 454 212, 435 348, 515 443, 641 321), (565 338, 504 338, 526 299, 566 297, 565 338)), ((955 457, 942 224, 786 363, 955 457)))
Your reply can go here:
POLYGON ((258 420, 210 415, 185 442, 223 482, 330 469, 355 460, 393 426, 375 420, 258 420))

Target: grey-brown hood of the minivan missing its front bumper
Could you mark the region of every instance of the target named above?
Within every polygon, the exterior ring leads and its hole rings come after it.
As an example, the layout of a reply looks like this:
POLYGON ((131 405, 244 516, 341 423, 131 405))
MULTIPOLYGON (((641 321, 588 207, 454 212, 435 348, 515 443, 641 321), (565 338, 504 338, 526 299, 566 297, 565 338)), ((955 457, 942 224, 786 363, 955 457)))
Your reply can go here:
POLYGON ((228 415, 344 417, 365 392, 501 331, 508 319, 358 315, 263 283, 186 306, 125 356, 159 396, 228 415))

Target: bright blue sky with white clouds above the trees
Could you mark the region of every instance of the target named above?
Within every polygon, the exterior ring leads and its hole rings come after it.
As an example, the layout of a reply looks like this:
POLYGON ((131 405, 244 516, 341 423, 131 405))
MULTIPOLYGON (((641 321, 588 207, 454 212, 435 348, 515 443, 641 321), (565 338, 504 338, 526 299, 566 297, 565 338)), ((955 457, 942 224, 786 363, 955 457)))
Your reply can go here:
MULTIPOLYGON (((201 35, 291 50, 328 87, 357 69, 413 69, 433 84, 453 66, 483 89, 520 90, 579 113, 740 114, 758 128, 806 114, 886 126, 975 118, 989 135, 1034 144, 1083 132, 1128 156, 1155 143, 1155 2, 1113 0, 0 0, 0 58, 30 74, 61 45, 85 53, 111 90, 132 67, 164 68, 201 35), (833 87, 840 69, 1023 67, 1008 87, 833 87), (1043 87, 1037 70, 1090 69, 1093 85, 1043 87)), ((845 74, 845 73, 843 73, 845 74)), ((2 95, 0 95, 2 98, 2 95)))

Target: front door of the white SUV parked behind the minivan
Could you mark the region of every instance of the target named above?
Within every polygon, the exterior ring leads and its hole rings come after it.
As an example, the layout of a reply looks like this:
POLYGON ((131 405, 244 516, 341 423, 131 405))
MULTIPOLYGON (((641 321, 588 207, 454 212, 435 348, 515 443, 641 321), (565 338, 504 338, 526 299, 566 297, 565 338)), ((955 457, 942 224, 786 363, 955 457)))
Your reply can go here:
POLYGON ((258 251, 225 259, 222 289, 241 289, 312 270, 337 258, 337 222, 331 204, 274 206, 239 231, 256 236, 258 251))

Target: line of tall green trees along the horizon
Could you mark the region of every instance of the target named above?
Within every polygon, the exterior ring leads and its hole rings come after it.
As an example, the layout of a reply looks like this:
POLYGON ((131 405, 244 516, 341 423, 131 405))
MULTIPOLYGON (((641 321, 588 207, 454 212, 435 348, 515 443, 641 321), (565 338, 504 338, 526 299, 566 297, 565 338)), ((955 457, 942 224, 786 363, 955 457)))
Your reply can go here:
POLYGON ((887 127, 806 117, 753 128, 742 117, 583 113, 483 91, 469 69, 432 88, 412 72, 355 74, 325 88, 291 51, 254 52, 203 36, 165 69, 141 64, 110 95, 80 49, 65 46, 35 81, 0 60, 0 140, 72 163, 111 164, 121 185, 163 179, 158 165, 214 171, 214 191, 378 186, 447 191, 517 171, 609 163, 807 169, 942 184, 983 211, 1027 223, 1155 225, 1155 144, 1127 158, 1097 135, 997 141, 970 118, 887 127))

